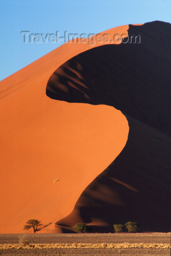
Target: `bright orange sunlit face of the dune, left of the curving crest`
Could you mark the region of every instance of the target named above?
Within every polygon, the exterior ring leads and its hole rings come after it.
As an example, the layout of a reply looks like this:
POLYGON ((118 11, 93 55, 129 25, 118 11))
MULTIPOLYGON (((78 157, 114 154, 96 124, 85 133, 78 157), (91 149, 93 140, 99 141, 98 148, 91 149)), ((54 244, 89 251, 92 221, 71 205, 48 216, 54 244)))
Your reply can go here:
POLYGON ((46 95, 55 69, 104 44, 66 43, 0 82, 0 233, 25 233, 28 219, 53 222, 43 231, 55 232, 55 221, 124 148, 129 127, 119 110, 46 95))

